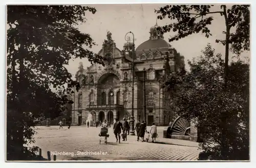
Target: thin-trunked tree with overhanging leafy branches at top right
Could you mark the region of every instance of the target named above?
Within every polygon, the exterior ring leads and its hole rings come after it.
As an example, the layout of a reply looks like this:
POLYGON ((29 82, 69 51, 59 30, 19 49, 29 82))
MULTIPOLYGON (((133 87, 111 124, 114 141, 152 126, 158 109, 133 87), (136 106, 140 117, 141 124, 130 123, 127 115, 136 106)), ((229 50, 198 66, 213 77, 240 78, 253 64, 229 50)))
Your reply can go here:
POLYGON ((229 44, 231 51, 240 54, 242 50, 250 48, 250 11, 249 5, 233 5, 230 9, 226 5, 221 5, 217 11, 212 11, 214 5, 166 5, 156 10, 158 19, 163 19, 166 16, 174 23, 159 27, 163 32, 177 32, 178 34, 169 39, 169 42, 185 38, 194 33, 203 33, 208 38, 210 30, 208 25, 211 24, 214 17, 212 14, 219 14, 225 18, 226 30, 223 32, 226 35, 225 40, 216 39, 217 43, 225 45, 225 87, 228 78, 228 57, 229 44), (232 28, 234 32, 231 33, 232 28))

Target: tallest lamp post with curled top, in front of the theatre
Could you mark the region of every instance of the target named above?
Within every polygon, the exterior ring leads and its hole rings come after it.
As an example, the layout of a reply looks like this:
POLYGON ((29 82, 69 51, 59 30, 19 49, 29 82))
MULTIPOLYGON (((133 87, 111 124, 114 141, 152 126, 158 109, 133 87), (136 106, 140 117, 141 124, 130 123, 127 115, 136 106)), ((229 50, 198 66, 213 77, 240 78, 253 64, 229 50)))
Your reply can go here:
MULTIPOLYGON (((130 42, 131 41, 131 38, 130 36, 127 36, 127 34, 132 34, 133 35, 133 48, 132 48, 132 53, 133 53, 133 85, 132 85, 132 117, 131 117, 131 135, 135 135, 134 133, 134 48, 135 48, 135 45, 134 45, 134 34, 132 32, 128 32, 125 34, 124 36, 124 39, 127 41, 127 42, 130 42)), ((129 49, 130 51, 130 49, 129 49)))

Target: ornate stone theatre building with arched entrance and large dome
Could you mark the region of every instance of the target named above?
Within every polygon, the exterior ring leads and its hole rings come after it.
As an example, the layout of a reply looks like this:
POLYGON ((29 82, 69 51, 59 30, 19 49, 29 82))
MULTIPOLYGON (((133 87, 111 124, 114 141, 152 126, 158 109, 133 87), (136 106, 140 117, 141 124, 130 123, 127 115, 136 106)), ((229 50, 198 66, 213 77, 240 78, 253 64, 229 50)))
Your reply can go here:
POLYGON ((161 81, 184 66, 184 57, 172 48, 157 30, 151 27, 150 37, 140 44, 135 52, 134 44, 126 42, 123 49, 116 47, 111 33, 102 44, 99 55, 105 58, 105 66, 94 64, 83 68, 80 63, 76 79, 81 89, 73 95, 72 123, 84 124, 86 120, 103 121, 111 124, 115 118, 132 115, 132 81, 134 78, 134 120, 165 126, 177 117, 169 108, 169 95, 161 89, 161 81), (125 52, 129 51, 129 52, 125 52), (134 76, 133 76, 134 53, 134 76), (144 73, 145 102, 144 117, 144 73))

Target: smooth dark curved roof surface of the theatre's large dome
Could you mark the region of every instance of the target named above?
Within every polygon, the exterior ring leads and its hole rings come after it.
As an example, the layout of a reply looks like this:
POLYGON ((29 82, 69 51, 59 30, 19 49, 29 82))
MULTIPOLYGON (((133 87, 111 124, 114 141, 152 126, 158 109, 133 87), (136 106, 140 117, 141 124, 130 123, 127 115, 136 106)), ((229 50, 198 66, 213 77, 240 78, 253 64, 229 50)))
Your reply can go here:
POLYGON ((147 40, 141 43, 137 48, 136 51, 147 50, 147 49, 155 49, 155 48, 163 48, 163 47, 170 47, 171 45, 168 44, 164 39, 158 38, 155 40, 147 40))

